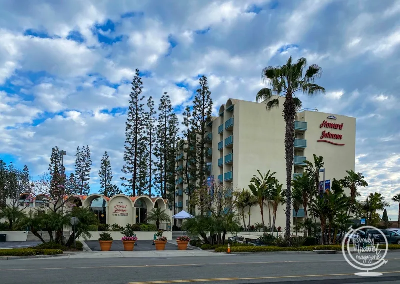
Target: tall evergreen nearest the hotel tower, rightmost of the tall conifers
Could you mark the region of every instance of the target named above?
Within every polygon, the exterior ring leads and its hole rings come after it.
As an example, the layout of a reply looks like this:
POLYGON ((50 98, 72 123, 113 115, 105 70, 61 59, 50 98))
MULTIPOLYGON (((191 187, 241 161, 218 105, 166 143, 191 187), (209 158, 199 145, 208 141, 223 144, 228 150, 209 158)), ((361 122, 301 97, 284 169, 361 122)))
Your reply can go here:
MULTIPOLYGON (((197 89, 193 100, 193 114, 191 117, 191 127, 195 134, 195 161, 197 170, 195 180, 202 186, 205 182, 205 157, 206 157, 206 123, 212 113, 211 91, 208 88, 207 77, 202 76, 199 79, 200 87, 197 89)), ((194 136, 194 135, 193 135, 194 136)), ((201 215, 204 215, 201 210, 201 215)))

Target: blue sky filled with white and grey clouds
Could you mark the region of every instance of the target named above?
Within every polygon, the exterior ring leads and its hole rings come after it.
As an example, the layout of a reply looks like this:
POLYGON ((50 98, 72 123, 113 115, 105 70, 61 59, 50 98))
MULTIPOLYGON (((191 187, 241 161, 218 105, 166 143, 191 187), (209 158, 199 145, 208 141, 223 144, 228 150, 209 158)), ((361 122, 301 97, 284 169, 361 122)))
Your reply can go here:
MULTIPOLYGON (((0 0, 0 158, 47 170, 51 148, 92 152, 98 190, 108 151, 120 183, 134 70, 143 94, 167 91, 179 114, 198 76, 214 114, 228 98, 255 100, 261 70, 291 55, 318 64, 325 95, 304 107, 357 118, 356 171, 391 203, 400 192, 400 1, 0 0)), ((181 116, 179 116, 181 117, 181 116)))

